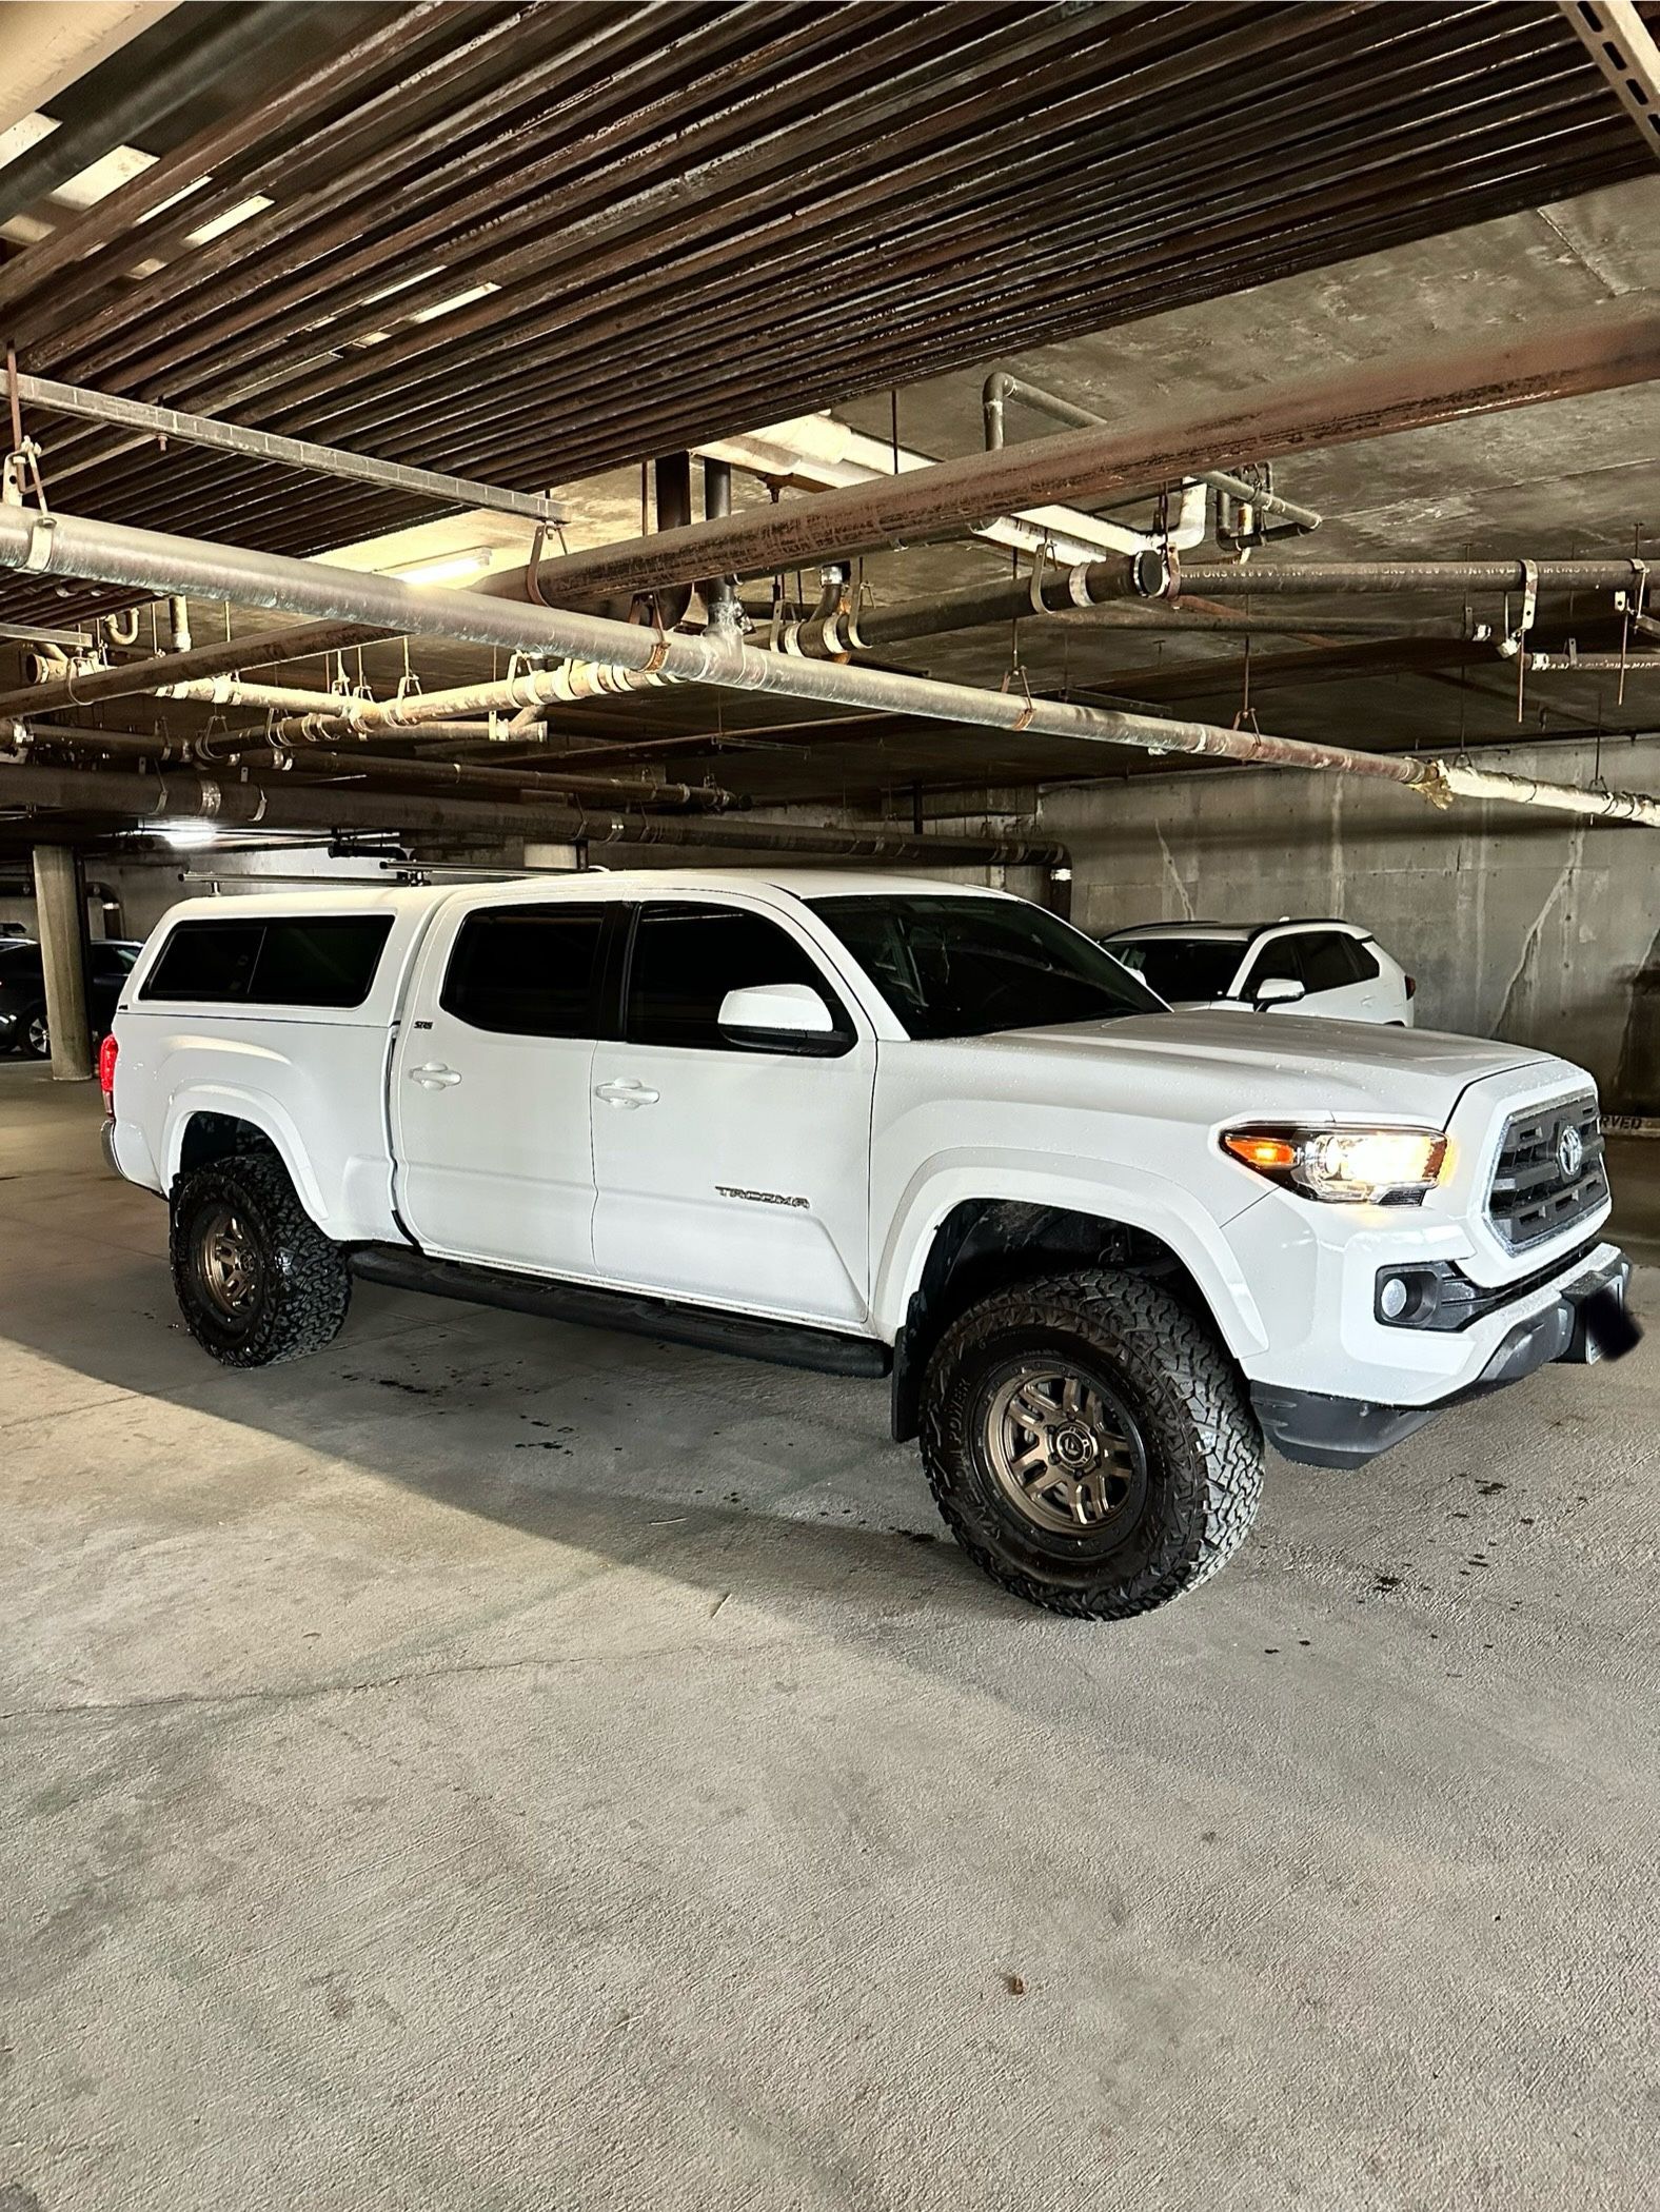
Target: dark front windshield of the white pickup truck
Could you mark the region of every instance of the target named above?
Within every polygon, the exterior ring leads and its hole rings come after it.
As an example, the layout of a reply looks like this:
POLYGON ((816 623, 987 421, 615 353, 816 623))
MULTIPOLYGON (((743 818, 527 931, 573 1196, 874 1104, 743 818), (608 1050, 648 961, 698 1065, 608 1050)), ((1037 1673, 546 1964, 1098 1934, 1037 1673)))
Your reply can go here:
POLYGON ((1016 898, 812 898, 912 1037, 1111 1022, 1164 1002, 1069 922, 1016 898))

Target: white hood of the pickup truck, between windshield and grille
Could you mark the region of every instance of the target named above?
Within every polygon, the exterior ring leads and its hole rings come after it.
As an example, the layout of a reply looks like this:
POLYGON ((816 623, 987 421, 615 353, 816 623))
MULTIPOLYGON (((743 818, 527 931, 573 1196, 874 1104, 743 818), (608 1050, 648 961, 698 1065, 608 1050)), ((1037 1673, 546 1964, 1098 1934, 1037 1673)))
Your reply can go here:
MULTIPOLYGON (((1549 1066, 1552 1053, 1434 1029, 1381 1022, 1299 1022, 1284 1015, 1131 1013, 1116 1022, 1000 1031, 987 1046, 1054 1055, 1056 1071, 1082 1075, 1096 1062, 1127 1082, 1169 1073, 1184 1104, 1204 1093, 1217 1113, 1304 1119, 1405 1115, 1445 1121, 1470 1084, 1549 1066)), ((1560 1062, 1565 1077, 1578 1075, 1560 1062)))

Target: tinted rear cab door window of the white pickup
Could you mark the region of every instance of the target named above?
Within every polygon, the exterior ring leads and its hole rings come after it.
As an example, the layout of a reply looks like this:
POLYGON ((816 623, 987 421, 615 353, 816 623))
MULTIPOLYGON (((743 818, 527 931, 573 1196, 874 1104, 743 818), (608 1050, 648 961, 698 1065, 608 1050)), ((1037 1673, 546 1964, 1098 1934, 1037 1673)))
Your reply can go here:
POLYGON ((460 925, 440 1004, 518 1037, 598 1037, 613 907, 487 907, 460 925))

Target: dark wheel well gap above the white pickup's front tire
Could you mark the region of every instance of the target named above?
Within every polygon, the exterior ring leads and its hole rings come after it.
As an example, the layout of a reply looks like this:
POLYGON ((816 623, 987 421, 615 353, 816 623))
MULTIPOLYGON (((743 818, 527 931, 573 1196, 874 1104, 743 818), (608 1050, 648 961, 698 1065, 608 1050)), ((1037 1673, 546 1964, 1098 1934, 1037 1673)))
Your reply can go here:
POLYGON ((1151 1230, 1025 1199, 965 1199, 934 1230, 923 1276, 894 1345, 894 1438, 916 1436, 921 1387, 934 1345, 958 1314, 1011 1283, 1069 1267, 1124 1267, 1164 1285, 1215 1334, 1211 1307, 1186 1263, 1151 1230))

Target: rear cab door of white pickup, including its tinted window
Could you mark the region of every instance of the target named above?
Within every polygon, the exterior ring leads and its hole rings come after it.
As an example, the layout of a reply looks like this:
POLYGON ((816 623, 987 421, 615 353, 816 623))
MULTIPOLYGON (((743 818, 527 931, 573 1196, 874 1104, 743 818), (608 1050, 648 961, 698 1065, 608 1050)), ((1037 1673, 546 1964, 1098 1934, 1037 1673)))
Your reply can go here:
POLYGON ((434 925, 392 1062, 398 1212, 423 1250, 593 1272, 589 1075, 624 914, 502 900, 434 925))

